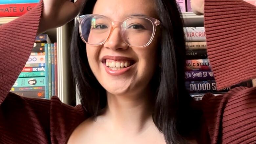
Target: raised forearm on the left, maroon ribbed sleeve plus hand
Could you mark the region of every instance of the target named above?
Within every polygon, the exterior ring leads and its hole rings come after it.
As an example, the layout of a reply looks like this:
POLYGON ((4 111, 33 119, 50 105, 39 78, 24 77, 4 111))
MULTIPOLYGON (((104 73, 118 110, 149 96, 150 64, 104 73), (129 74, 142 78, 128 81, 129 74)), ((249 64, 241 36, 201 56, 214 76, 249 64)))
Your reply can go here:
POLYGON ((72 20, 83 2, 41 0, 28 13, 0 26, 0 105, 25 66, 36 35, 72 20))

